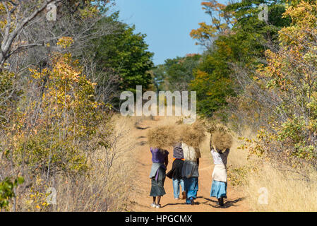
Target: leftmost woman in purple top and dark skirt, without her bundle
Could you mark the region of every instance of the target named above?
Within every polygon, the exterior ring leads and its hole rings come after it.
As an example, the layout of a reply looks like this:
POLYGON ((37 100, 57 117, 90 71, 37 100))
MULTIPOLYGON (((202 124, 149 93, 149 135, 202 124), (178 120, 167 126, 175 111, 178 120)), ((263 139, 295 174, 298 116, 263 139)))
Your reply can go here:
POLYGON ((169 152, 160 148, 150 148, 150 151, 152 153, 152 168, 150 172, 150 196, 153 197, 153 203, 151 204, 151 206, 152 208, 161 208, 161 197, 166 194, 164 189, 164 182, 166 177, 169 152))

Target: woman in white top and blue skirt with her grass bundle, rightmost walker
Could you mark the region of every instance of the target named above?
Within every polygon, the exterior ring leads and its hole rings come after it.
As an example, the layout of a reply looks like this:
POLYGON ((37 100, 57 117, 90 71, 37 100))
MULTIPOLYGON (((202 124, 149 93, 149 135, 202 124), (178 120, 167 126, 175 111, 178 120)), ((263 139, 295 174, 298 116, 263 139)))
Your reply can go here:
POLYGON ((210 197, 216 197, 220 206, 224 206, 227 198, 227 158, 232 145, 232 136, 225 131, 215 131, 210 138, 210 151, 215 168, 210 197))

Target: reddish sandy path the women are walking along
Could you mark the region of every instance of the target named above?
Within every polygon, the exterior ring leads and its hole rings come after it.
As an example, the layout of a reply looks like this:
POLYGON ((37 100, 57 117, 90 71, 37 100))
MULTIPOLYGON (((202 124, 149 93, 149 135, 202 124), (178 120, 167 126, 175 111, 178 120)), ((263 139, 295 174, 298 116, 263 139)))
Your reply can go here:
MULTIPOLYGON (((217 204, 216 198, 210 197, 211 188, 211 174, 213 172, 213 163, 207 153, 202 153, 199 166, 199 191, 198 198, 196 199, 195 206, 186 205, 184 200, 174 200, 172 179, 166 178, 165 191, 166 195, 162 197, 162 208, 155 209, 150 208, 152 203, 152 197, 150 194, 150 168, 152 166, 150 147, 146 143, 146 133, 149 128, 159 126, 162 124, 162 119, 155 121, 151 119, 145 119, 140 121, 138 126, 134 126, 131 131, 131 136, 138 144, 136 147, 136 164, 138 169, 137 188, 138 191, 135 198, 135 203, 131 207, 132 211, 166 211, 166 212, 217 212, 217 211, 249 211, 244 196, 241 196, 241 192, 235 190, 228 184, 227 199, 225 199, 225 206, 220 207, 217 204)), ((167 172, 172 168, 172 148, 169 151, 169 165, 167 172)), ((229 156, 230 157, 230 156, 229 156)))

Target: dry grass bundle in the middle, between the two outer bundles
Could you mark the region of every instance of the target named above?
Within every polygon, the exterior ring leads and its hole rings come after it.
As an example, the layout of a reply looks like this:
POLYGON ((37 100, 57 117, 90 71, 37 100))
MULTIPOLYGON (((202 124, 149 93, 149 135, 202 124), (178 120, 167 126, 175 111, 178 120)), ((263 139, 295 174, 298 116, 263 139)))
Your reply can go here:
POLYGON ((193 148, 199 148, 205 139, 205 127, 201 122, 194 124, 184 124, 180 129, 180 140, 193 148))

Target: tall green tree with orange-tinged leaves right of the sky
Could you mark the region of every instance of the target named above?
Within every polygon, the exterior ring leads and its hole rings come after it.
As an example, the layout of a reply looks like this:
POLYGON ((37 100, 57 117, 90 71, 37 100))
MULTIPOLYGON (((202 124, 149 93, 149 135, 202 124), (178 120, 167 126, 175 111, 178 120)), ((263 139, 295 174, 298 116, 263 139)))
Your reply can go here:
POLYGON ((194 73, 191 88, 198 92, 198 111, 211 117, 227 105, 228 97, 243 92, 244 81, 237 80, 235 73, 244 69, 253 77, 265 61, 265 49, 277 43, 277 32, 289 24, 289 18, 282 18, 282 1, 241 0, 225 6, 209 0, 202 5, 212 25, 201 23, 191 37, 198 44, 213 42, 194 73), (258 19, 260 4, 268 5, 269 23, 258 19))

